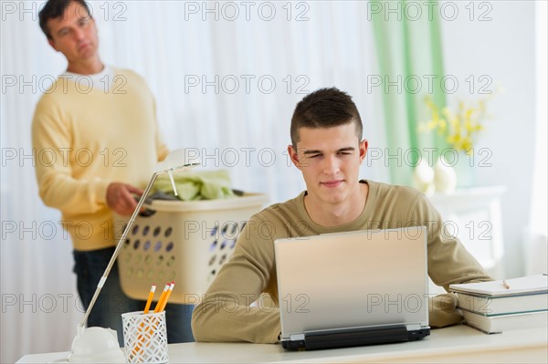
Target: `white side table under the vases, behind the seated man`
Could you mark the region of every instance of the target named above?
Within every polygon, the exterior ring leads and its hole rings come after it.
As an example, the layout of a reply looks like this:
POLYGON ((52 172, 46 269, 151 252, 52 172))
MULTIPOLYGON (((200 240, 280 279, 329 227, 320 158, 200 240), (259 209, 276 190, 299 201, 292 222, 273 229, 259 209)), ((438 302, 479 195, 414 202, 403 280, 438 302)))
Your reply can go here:
POLYGON ((429 196, 449 233, 457 234, 494 278, 504 277, 501 195, 505 191, 503 186, 476 187, 429 196))

